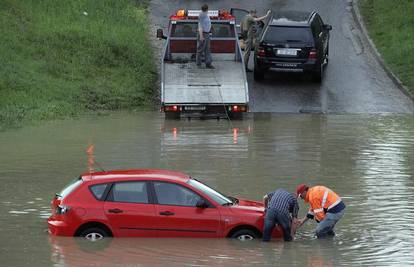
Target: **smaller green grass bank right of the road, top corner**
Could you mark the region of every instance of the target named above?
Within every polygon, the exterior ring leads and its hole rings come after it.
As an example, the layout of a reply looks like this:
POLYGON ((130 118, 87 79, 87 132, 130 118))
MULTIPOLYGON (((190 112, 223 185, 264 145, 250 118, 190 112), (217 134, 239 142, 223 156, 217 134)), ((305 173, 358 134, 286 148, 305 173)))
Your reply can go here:
POLYGON ((370 37, 414 96, 414 1, 360 0, 370 37))

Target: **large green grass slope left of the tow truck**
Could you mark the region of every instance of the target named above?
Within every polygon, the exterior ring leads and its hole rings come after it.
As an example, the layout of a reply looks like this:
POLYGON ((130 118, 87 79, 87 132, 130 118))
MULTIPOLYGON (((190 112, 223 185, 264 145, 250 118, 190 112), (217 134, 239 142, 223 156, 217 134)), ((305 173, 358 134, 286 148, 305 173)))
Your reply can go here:
POLYGON ((147 1, 0 1, 0 130, 150 107, 147 1))

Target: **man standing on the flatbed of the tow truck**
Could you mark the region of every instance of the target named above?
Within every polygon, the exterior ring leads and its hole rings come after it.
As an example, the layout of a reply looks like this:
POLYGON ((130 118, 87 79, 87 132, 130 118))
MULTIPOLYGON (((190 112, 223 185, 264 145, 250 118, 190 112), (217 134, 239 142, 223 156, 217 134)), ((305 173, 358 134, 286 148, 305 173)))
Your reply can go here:
POLYGON ((204 57, 204 62, 206 63, 206 68, 214 69, 214 66, 211 64, 211 51, 210 51, 210 31, 211 31, 211 21, 208 16, 208 5, 204 4, 201 7, 200 15, 198 16, 198 39, 197 39, 197 55, 196 55, 196 64, 201 67, 201 61, 204 57))

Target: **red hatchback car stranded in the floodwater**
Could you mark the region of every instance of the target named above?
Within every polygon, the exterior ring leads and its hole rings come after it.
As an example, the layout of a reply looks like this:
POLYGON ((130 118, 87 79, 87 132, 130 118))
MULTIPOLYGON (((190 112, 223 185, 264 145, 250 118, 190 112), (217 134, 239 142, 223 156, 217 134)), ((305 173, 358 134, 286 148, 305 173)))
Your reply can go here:
MULTIPOLYGON (((49 232, 59 236, 232 237, 262 235, 261 202, 225 196, 167 170, 85 173, 52 200, 49 232)), ((274 237, 280 237, 275 228, 274 237)))

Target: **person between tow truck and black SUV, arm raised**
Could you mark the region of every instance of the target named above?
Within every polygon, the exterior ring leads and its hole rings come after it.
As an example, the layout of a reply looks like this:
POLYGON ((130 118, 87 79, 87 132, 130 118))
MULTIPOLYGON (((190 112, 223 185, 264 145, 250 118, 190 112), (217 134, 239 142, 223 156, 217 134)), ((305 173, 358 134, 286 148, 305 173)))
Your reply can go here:
POLYGON ((244 47, 244 64, 246 66, 246 71, 251 72, 252 70, 248 68, 249 66, 249 58, 250 52, 253 48, 255 31, 254 31, 254 24, 259 21, 265 20, 270 15, 270 10, 267 11, 267 14, 262 17, 257 17, 256 9, 252 9, 249 11, 249 14, 246 15, 240 25, 240 30, 242 33, 242 37, 244 39, 245 47, 244 47))

